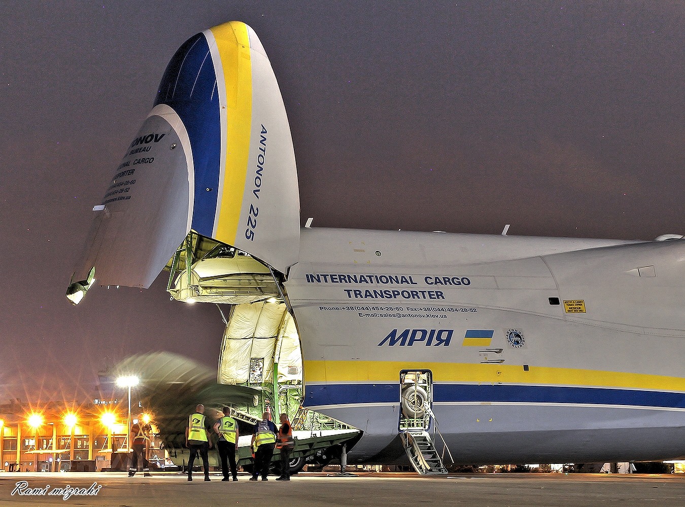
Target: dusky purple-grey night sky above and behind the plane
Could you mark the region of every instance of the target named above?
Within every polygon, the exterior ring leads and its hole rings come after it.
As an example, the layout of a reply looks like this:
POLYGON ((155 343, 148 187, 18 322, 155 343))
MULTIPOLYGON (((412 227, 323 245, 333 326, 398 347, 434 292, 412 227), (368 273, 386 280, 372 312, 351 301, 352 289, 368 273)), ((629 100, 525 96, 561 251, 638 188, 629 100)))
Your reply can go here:
POLYGON ((64 298, 167 62, 225 21, 281 87, 314 226, 653 239, 684 233, 685 4, 3 1, 0 402, 90 398, 169 350, 215 367, 214 305, 64 298), (200 2, 197 2, 200 3, 200 2))

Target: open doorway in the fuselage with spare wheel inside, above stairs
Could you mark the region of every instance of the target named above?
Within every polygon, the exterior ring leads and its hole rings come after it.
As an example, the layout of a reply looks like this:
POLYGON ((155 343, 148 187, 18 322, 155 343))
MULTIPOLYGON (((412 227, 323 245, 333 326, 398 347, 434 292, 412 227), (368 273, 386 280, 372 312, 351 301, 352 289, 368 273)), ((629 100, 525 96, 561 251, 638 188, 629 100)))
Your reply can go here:
POLYGON ((433 378, 429 370, 399 372, 399 430, 428 430, 433 404, 433 378))

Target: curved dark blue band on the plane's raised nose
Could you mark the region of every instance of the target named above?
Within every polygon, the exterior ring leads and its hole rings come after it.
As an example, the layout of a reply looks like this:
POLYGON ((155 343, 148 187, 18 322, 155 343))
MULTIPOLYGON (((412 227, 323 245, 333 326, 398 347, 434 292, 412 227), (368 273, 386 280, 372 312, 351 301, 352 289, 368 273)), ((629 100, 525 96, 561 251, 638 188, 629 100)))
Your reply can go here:
POLYGON ((195 166, 192 229, 211 237, 219 193, 221 118, 214 64, 203 34, 186 40, 173 55, 160 82, 158 104, 172 107, 188 131, 195 166))

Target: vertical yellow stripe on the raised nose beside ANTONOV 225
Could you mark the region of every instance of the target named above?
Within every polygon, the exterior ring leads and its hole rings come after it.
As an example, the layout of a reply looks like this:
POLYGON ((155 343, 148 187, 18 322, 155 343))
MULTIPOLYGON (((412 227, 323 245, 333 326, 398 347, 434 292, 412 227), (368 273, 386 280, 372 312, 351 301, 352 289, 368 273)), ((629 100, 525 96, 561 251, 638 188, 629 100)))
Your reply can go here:
MULTIPOLYGON (((247 179, 247 160, 252 122, 252 67, 247 25, 231 21, 213 27, 212 35, 221 57, 226 86, 226 164, 223 172, 223 192, 216 225, 216 239, 235 244, 247 179)), ((217 75, 217 79, 221 76, 217 75)))

